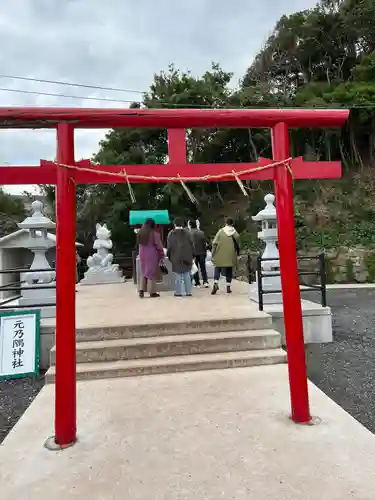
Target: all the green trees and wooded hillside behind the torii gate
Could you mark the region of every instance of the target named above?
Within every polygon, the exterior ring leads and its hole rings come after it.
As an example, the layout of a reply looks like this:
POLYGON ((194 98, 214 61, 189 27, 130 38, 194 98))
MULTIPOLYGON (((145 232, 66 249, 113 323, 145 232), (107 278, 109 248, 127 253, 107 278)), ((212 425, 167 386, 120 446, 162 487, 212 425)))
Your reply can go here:
MULTIPOLYGON (((154 75, 142 103, 131 107, 350 107, 344 130, 293 130, 293 156, 341 159, 340 182, 298 181, 294 185, 296 230, 301 249, 375 245, 375 3, 321 0, 315 8, 285 15, 246 71, 240 88, 219 64, 201 76, 173 65, 154 75), (365 179, 365 180, 364 180, 365 179)), ((162 164, 167 160, 165 130, 111 130, 93 159, 109 164, 162 164)), ((189 130, 191 162, 246 162, 272 157, 268 130, 189 130)), ((200 217, 211 236, 224 215, 237 220, 243 245, 259 245, 250 216, 264 208, 272 183, 247 182, 249 201, 236 183, 190 186, 193 205, 178 184, 95 185, 77 191, 79 237, 90 245, 95 223, 106 221, 116 251, 128 251, 134 233, 130 208, 167 208, 172 216, 200 217)), ((53 199, 53 190, 47 188, 53 199)), ((88 246, 88 248, 90 248, 88 246)))

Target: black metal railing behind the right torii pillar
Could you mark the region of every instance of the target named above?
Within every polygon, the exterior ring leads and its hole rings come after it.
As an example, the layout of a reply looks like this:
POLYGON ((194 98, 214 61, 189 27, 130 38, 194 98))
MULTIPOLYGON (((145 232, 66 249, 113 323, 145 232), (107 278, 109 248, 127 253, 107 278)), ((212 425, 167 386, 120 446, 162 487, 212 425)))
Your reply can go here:
MULTIPOLYGON (((255 276, 256 276, 256 281, 258 285, 258 302, 259 302, 259 310, 263 311, 263 306, 264 306, 264 300, 263 296, 266 294, 271 294, 271 293, 281 293, 281 290, 264 290, 263 289, 263 278, 269 278, 269 277, 275 277, 275 276, 280 276, 280 272, 277 271, 266 271, 263 272, 262 269, 262 262, 267 262, 267 261, 277 261, 280 259, 275 259, 275 258, 262 258, 261 255, 258 255, 256 258, 256 271, 254 272, 254 267, 251 265, 252 260, 251 256, 248 256, 248 277, 249 277, 249 283, 253 283, 255 281, 255 276)), ((318 269, 315 271, 304 271, 298 268, 298 276, 299 276, 299 281, 300 281, 300 291, 301 292, 320 292, 320 299, 321 299, 321 305, 323 307, 327 306, 327 281, 326 281, 326 263, 325 263, 325 255, 324 253, 321 253, 319 255, 315 256, 309 256, 309 257, 297 257, 298 263, 307 261, 307 260, 317 260, 318 261, 318 269), (304 281, 304 277, 311 276, 311 277, 316 277, 319 284, 312 284, 312 283, 306 283, 304 281)))

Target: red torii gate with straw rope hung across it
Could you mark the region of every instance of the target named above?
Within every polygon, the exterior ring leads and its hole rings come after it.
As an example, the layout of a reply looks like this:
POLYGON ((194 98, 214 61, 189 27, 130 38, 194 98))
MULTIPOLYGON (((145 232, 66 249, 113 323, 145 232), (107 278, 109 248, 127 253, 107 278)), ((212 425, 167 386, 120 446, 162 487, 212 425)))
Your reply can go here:
POLYGON ((76 184, 115 182, 185 182, 216 180, 274 180, 284 324, 292 419, 311 420, 304 351, 301 298, 294 227, 292 177, 337 178, 340 162, 304 162, 290 158, 289 128, 341 127, 347 110, 318 109, 77 109, 0 108, 0 128, 55 128, 56 162, 40 166, 2 166, 1 184, 56 185, 56 387, 55 442, 66 447, 76 441, 76 325, 75 218, 76 184), (75 162, 76 128, 166 128, 166 165, 91 165, 75 162), (258 163, 188 164, 186 129, 271 128, 273 165, 258 163), (261 169, 260 167, 264 167, 261 169), (95 172, 100 170, 100 172, 95 172), (245 173, 244 173, 245 171, 245 173), (242 172, 242 173, 241 173, 242 172))

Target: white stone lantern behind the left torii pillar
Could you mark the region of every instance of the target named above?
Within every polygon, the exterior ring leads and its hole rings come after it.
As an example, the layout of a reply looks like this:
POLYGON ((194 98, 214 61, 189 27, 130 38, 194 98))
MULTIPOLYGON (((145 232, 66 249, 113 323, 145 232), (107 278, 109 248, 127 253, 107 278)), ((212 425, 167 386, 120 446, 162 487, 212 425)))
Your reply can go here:
POLYGON ((29 231, 27 247, 33 254, 30 270, 21 275, 22 297, 19 305, 33 306, 45 304, 41 309, 42 317, 55 317, 56 314, 56 272, 51 268, 46 252, 50 247, 48 230, 54 229, 56 224, 43 215, 43 203, 34 201, 31 204, 33 214, 18 224, 20 229, 29 231), (25 290, 25 287, 32 287, 25 290), (48 304, 51 304, 50 306, 48 304))

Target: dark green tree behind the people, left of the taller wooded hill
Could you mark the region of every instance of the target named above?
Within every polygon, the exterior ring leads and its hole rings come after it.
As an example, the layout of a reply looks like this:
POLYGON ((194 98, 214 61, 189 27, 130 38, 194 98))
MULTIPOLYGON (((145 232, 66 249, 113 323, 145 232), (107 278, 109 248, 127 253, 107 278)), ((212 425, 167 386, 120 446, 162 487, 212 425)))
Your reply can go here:
MULTIPOLYGON (((154 75, 150 90, 144 95, 142 106, 163 107, 222 107, 239 103, 239 97, 230 89, 231 73, 213 64, 210 71, 201 77, 184 73, 173 65, 168 71, 154 75)), ((133 107, 136 104, 133 105, 133 107)), ((249 159, 241 148, 248 133, 243 131, 242 144, 228 134, 228 131, 187 131, 187 154, 192 162, 230 161, 234 154, 249 159)), ((165 130, 117 129, 108 132, 100 143, 94 161, 99 164, 146 164, 167 161, 168 142, 165 130)), ((201 183, 191 186, 199 200, 196 206, 188 199, 179 184, 137 183, 132 185, 136 202, 132 203, 126 184, 91 186, 86 192, 84 212, 91 219, 106 221, 113 231, 117 249, 128 251, 134 244, 134 234, 127 227, 130 209, 169 209, 172 216, 185 219, 204 214, 217 200, 231 195, 233 186, 218 186, 217 183, 201 183)), ((238 187, 236 188, 238 190, 238 187)), ((236 191, 237 192, 237 191, 236 191)))

